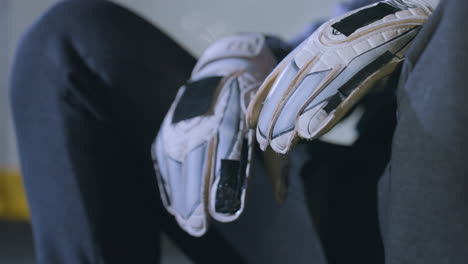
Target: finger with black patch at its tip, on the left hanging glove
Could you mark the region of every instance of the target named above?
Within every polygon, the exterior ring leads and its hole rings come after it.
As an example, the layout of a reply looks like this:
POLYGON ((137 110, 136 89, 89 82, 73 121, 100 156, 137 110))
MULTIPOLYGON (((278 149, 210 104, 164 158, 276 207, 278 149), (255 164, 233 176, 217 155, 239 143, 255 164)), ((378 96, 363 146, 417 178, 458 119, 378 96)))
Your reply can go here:
POLYGON ((236 220, 244 209, 247 188, 248 147, 246 123, 240 98, 239 79, 226 83, 229 99, 218 128, 214 178, 210 186, 209 209, 220 222, 236 220), (247 152, 246 152, 247 151, 247 152))

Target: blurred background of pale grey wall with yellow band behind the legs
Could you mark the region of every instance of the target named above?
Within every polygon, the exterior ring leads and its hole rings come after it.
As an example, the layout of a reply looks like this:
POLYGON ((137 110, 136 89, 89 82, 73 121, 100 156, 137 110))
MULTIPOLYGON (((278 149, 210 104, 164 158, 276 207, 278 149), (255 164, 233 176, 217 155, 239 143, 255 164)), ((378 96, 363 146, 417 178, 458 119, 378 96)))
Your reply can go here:
MULTIPOLYGON (((143 16, 193 55, 235 32, 265 32, 286 40, 333 14, 339 0, 114 0, 143 16)), ((0 263, 32 264, 29 215, 15 146, 8 76, 18 41, 56 0, 0 0, 0 263)), ((86 19, 86 18, 83 18, 86 19)), ((92 30, 92 29, 90 29, 92 30)), ((164 239, 164 264, 190 263, 164 239)))

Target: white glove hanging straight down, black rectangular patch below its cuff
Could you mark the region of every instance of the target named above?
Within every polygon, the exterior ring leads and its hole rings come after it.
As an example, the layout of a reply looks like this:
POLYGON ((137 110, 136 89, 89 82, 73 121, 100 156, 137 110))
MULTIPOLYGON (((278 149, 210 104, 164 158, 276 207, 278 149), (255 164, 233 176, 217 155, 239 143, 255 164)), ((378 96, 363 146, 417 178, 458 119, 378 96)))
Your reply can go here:
POLYGON ((277 64, 266 42, 237 34, 212 44, 153 144, 163 203, 193 236, 207 231, 210 216, 230 222, 244 210, 255 135, 244 113, 277 64))

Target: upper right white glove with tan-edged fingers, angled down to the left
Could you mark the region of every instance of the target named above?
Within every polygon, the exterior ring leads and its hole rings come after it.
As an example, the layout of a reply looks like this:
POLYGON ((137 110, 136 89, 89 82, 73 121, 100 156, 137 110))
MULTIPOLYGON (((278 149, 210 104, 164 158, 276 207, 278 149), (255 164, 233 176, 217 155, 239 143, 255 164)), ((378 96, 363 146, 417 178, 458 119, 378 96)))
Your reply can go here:
POLYGON ((329 131, 390 75, 438 0, 388 0, 324 23, 267 77, 246 118, 265 150, 329 131))

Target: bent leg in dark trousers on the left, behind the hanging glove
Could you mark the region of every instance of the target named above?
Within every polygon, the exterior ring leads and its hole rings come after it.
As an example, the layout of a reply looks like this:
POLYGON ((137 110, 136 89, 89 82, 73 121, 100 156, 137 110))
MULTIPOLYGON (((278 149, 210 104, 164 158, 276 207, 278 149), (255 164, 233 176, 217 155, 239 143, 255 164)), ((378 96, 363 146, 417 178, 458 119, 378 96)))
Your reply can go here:
POLYGON ((24 36, 11 101, 38 263, 156 263, 164 229, 194 261, 240 263, 163 210, 150 146, 195 63, 107 1, 60 2, 24 36))

